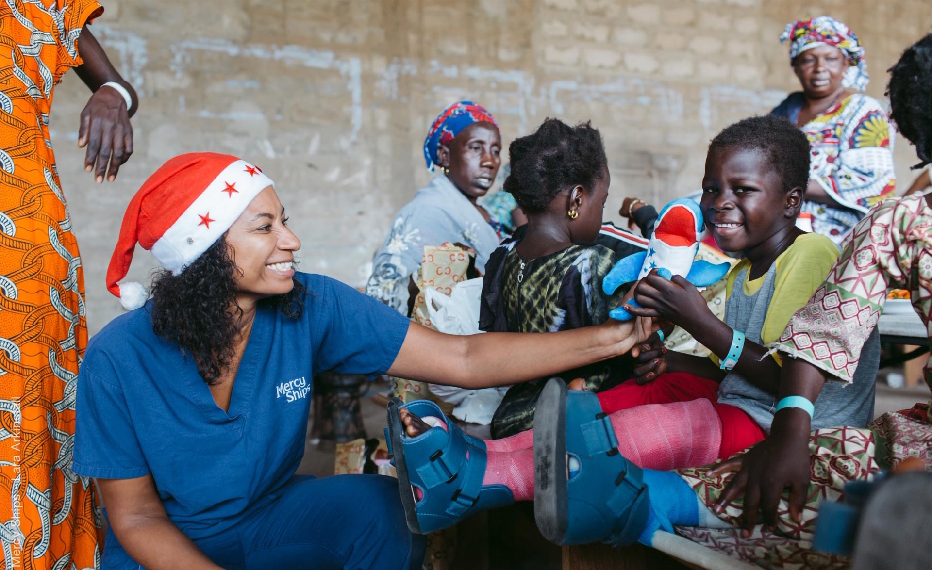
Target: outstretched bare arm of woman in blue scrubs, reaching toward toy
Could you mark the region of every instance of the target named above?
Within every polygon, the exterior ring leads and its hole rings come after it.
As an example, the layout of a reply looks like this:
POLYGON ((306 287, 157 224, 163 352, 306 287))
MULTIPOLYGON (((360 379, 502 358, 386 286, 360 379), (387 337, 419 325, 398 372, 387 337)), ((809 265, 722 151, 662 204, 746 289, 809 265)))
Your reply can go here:
POLYGON ((447 386, 504 386, 625 354, 656 328, 652 319, 610 319, 566 332, 457 336, 411 323, 388 372, 447 386))

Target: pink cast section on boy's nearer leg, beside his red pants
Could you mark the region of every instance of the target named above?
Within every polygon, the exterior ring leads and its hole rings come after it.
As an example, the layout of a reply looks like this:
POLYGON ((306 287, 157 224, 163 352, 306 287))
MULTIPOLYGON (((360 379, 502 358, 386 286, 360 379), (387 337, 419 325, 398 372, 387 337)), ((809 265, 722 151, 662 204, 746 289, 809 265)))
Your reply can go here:
POLYGON ((699 467, 719 457, 721 420, 709 400, 648 404, 610 418, 618 449, 642 468, 699 467))

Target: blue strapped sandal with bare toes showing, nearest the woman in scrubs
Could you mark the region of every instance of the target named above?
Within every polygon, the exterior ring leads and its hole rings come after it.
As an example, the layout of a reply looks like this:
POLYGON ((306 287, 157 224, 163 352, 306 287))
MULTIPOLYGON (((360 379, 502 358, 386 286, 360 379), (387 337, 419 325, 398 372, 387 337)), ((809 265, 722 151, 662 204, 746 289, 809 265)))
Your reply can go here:
POLYGON ((398 471, 404 516, 408 530, 419 535, 453 526, 468 516, 514 503, 505 485, 486 485, 486 444, 462 432, 445 417, 437 404, 417 400, 404 404, 389 401, 386 429, 389 453, 398 471), (404 433, 401 408, 419 417, 442 418, 443 427, 432 427, 418 437, 404 433), (417 487, 423 493, 415 495, 417 487))

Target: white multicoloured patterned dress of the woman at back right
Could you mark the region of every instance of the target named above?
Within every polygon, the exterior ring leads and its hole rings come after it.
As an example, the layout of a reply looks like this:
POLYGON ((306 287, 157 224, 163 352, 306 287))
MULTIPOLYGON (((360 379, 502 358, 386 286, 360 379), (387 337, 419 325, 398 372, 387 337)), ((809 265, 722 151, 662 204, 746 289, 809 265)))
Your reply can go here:
MULTIPOLYGON (((795 123, 802 102, 802 92, 792 93, 772 114, 795 123)), ((803 125, 802 132, 811 147, 810 180, 839 205, 834 208, 807 200, 802 211, 812 214, 813 231, 841 247, 844 237, 874 204, 893 196, 894 137, 889 121, 879 102, 856 93, 803 125)))

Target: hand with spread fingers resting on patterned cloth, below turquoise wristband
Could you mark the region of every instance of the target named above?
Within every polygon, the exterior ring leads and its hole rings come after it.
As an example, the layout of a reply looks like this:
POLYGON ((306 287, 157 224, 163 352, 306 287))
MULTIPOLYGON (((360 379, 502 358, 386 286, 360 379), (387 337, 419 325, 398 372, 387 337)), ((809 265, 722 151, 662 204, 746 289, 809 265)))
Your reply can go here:
MULTIPOLYGON (((805 414, 802 410, 794 412, 805 414)), ((771 431, 766 440, 747 450, 745 455, 722 462, 709 471, 709 475, 720 476, 734 471, 737 474, 725 487, 713 509, 721 512, 728 503, 744 494, 741 528, 745 537, 750 536, 757 524, 759 509, 764 524, 776 525, 780 495, 787 487, 789 515, 794 521, 801 522, 810 479, 809 432, 802 428, 771 431)))

